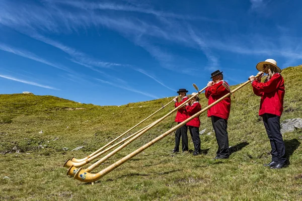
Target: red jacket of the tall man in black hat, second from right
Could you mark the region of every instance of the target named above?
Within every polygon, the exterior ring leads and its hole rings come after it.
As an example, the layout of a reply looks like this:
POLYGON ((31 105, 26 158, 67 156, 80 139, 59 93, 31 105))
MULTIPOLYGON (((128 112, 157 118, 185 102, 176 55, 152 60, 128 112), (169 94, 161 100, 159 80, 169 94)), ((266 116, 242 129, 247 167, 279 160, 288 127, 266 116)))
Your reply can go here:
MULTIPOLYGON (((205 97, 208 98, 208 104, 214 103, 216 100, 221 98, 223 95, 228 94, 229 91, 222 86, 223 80, 214 83, 205 89, 205 97)), ((226 83, 226 82, 225 82, 226 83)), ((226 83, 228 84, 228 83, 226 83)), ((228 120, 231 110, 231 97, 226 97, 219 103, 208 109, 208 117, 216 116, 222 119, 228 120)))

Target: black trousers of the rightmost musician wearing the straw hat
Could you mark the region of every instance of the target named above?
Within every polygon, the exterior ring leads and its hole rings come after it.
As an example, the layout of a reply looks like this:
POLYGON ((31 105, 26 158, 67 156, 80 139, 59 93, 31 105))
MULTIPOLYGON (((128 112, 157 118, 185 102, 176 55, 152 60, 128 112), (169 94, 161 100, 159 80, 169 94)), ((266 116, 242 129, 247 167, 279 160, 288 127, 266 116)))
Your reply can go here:
POLYGON ((285 144, 280 133, 280 117, 265 113, 262 118, 272 148, 272 161, 285 164, 285 144))

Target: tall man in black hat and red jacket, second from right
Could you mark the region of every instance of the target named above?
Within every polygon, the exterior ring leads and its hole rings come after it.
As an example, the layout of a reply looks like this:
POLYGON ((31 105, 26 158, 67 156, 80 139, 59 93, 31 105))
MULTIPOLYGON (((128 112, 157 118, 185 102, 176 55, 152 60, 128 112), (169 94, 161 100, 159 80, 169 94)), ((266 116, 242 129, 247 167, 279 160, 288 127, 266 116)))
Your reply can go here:
MULTIPOLYGON (((219 70, 211 73, 212 81, 209 81, 205 89, 205 97, 208 98, 208 105, 229 93, 228 83, 223 80, 223 74, 219 70), (227 87, 225 87, 227 86, 227 87)), ((231 97, 226 97, 207 111, 207 116, 212 120, 212 126, 218 144, 218 150, 214 159, 226 159, 230 156, 228 119, 231 109, 231 97)))

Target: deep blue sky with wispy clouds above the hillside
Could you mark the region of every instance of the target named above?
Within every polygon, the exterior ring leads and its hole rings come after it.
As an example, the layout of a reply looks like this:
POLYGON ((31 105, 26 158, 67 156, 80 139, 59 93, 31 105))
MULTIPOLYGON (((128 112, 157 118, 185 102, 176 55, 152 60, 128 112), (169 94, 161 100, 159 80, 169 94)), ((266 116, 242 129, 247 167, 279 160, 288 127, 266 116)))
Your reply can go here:
POLYGON ((302 63, 302 2, 0 0, 0 93, 124 105, 302 63))

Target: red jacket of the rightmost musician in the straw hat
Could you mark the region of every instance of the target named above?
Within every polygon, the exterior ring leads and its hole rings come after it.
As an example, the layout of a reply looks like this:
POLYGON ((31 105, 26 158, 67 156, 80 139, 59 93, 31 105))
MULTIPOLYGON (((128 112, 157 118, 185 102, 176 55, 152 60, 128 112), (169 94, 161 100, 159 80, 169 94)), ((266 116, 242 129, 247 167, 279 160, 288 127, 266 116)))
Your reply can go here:
POLYGON ((259 116, 265 113, 281 116, 283 112, 284 80, 280 73, 275 73, 270 80, 252 82, 253 91, 261 96, 259 116))

